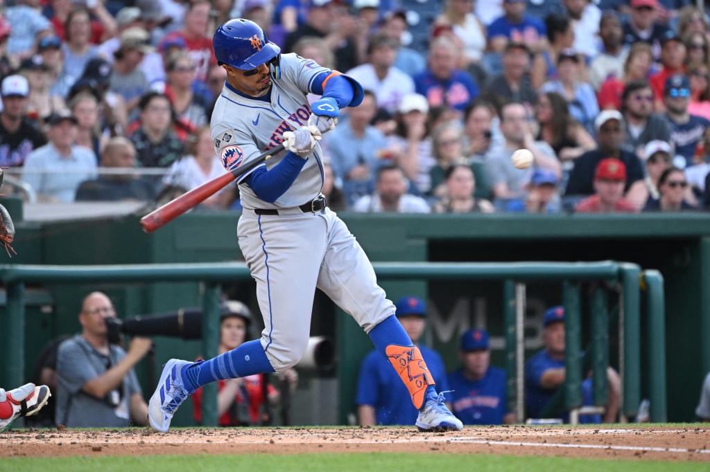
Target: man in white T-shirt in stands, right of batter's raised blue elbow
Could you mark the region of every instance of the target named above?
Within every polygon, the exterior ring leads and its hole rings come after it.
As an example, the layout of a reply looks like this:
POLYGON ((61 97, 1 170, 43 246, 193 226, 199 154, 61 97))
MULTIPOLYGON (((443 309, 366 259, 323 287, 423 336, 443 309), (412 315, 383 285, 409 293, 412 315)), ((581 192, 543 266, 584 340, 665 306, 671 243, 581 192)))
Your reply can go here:
POLYGON ((414 92, 414 81, 393 67, 398 43, 383 33, 373 35, 367 47, 370 62, 350 69, 347 74, 360 82, 363 89, 373 91, 379 108, 393 113, 400 100, 414 92))

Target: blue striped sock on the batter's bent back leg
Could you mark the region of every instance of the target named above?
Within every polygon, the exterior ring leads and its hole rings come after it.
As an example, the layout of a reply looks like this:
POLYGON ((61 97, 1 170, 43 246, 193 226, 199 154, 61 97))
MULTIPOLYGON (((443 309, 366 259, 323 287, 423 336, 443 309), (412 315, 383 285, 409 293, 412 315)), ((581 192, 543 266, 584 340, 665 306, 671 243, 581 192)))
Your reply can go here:
POLYGON ((245 342, 236 349, 207 361, 197 361, 187 365, 181 371, 185 388, 190 392, 207 383, 225 378, 239 378, 267 372, 274 372, 274 369, 259 339, 245 342))

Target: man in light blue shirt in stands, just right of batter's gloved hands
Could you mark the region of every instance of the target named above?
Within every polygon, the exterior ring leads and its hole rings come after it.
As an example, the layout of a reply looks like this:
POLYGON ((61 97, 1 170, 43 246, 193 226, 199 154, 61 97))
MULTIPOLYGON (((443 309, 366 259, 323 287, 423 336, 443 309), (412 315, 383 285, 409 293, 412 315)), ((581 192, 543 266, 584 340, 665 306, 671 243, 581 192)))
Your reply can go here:
POLYGON ((349 111, 349 120, 325 135, 333 170, 343 181, 349 205, 371 192, 373 174, 380 164, 378 150, 387 145, 380 130, 370 125, 376 113, 375 96, 365 90, 360 106, 349 111))

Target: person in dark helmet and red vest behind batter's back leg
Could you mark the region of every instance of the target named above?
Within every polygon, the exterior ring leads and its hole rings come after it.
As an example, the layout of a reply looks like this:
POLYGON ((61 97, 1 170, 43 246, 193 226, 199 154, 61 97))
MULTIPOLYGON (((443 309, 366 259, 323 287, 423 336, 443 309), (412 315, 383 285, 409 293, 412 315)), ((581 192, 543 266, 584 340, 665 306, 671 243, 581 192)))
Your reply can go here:
MULTIPOLYGON (((251 312, 249 308, 236 300, 227 300, 222 305, 219 325, 219 354, 239 347, 249 336, 251 327, 251 312)), ((289 383, 289 388, 295 390, 297 373, 288 369, 280 374, 289 383)), ((217 415, 219 426, 258 425, 261 420, 261 405, 264 402, 264 376, 258 373, 253 376, 231 378, 219 381, 217 386, 217 415)), ((266 386, 268 401, 278 403, 279 393, 270 384, 266 386)), ((192 394, 193 416, 198 423, 202 422, 202 388, 192 394)))

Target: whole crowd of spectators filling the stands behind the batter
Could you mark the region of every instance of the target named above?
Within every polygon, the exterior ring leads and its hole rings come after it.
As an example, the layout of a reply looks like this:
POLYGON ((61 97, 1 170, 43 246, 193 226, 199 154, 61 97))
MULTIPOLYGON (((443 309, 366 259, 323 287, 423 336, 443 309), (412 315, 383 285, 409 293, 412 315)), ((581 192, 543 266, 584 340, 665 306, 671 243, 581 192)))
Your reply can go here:
MULTIPOLYGON (((710 32, 694 4, 6 1, 0 167, 26 198, 65 202, 165 201, 221 174, 212 33, 243 17, 366 89, 322 140, 335 210, 706 210, 710 32)), ((239 209, 239 190, 202 208, 239 209)))

